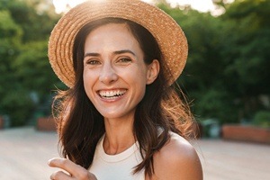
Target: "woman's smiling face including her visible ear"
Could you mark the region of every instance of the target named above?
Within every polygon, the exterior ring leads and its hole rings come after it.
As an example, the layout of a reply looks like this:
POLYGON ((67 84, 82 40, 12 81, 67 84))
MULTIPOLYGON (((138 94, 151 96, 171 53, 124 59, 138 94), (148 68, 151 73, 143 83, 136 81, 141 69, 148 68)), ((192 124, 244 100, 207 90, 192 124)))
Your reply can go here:
POLYGON ((86 37, 85 92, 104 118, 133 118, 158 69, 157 60, 144 63, 139 42, 125 24, 109 23, 86 37))

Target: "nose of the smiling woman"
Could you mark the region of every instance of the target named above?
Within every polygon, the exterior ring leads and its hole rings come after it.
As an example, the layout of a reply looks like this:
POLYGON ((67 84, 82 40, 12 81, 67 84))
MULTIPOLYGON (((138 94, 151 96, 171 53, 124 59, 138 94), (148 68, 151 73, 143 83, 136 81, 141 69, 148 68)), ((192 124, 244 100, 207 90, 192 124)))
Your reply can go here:
POLYGON ((103 82, 104 84, 111 84, 112 82, 116 81, 118 79, 118 76, 112 67, 111 63, 104 63, 103 67, 100 71, 99 80, 103 82))

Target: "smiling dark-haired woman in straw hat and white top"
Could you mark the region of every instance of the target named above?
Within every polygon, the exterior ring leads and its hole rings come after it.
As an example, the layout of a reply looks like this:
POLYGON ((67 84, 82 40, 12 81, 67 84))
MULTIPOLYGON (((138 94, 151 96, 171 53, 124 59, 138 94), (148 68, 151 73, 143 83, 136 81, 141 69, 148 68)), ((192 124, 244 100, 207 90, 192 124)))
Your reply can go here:
POLYGON ((49 39, 49 61, 70 88, 57 97, 65 158, 51 179, 202 179, 193 117, 172 84, 187 42, 167 14, 137 0, 88 1, 49 39))

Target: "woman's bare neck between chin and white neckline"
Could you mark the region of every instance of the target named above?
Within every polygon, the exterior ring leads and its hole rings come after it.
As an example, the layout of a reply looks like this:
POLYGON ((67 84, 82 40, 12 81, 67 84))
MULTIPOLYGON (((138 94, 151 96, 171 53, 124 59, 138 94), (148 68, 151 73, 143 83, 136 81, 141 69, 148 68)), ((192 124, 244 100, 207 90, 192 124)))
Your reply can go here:
POLYGON ((103 149, 106 154, 119 154, 135 143, 133 119, 129 121, 105 118, 104 122, 106 132, 103 140, 103 149))

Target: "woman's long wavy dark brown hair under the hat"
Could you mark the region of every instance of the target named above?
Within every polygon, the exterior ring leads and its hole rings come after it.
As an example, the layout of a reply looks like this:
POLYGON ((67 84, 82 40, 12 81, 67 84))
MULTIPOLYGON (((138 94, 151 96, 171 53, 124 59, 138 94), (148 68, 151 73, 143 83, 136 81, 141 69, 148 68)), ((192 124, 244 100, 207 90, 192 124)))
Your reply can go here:
MULTIPOLYGON (((94 29, 108 23, 127 25, 139 42, 144 61, 150 64, 157 59, 161 65, 157 79, 146 87, 146 93, 138 104, 134 115, 133 135, 139 142, 143 160, 134 167, 134 173, 145 169, 153 175, 153 156, 170 138, 173 131, 185 139, 189 138, 193 116, 183 95, 176 93, 175 86, 168 84, 170 71, 162 57, 157 41, 152 34, 138 23, 120 18, 104 18, 86 24, 76 35, 73 49, 73 65, 76 82, 67 91, 59 91, 53 110, 58 122, 59 145, 63 157, 85 168, 93 162, 98 140, 105 132, 103 116, 85 94, 83 81, 83 59, 86 36, 94 29), (157 129, 162 129, 159 135, 157 129)), ((181 92, 181 91, 180 91, 181 92)))

